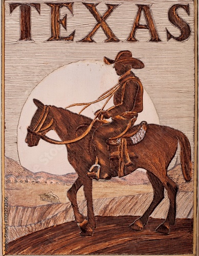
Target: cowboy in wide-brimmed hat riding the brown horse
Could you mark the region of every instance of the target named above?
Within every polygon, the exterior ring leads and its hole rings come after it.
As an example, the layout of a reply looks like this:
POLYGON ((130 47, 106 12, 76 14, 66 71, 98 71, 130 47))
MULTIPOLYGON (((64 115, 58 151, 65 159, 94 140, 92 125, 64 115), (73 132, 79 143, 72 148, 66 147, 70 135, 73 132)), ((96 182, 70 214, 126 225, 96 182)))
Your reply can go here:
MULTIPOLYGON (((107 157, 109 155, 106 141, 109 138, 120 135, 127 127, 129 120, 138 116, 143 110, 143 87, 140 79, 135 76, 131 69, 142 69, 144 63, 132 57, 130 51, 120 51, 115 60, 104 57, 107 65, 113 64, 114 69, 119 78, 119 87, 114 94, 114 106, 107 110, 98 110, 95 115, 99 119, 112 118, 111 122, 107 122, 99 126, 93 135, 96 146, 96 154, 98 163, 101 166, 101 179, 112 178, 112 170, 110 169, 107 157), (105 146, 104 146, 105 145, 105 146)), ((87 175, 95 177, 95 172, 89 172, 87 175)))

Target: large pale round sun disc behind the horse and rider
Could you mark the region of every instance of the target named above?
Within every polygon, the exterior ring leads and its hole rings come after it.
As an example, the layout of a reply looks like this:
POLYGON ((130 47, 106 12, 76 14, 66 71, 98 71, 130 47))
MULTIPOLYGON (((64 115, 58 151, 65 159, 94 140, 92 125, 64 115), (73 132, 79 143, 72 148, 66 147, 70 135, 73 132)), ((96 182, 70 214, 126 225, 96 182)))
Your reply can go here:
MULTIPOLYGON (((40 140, 34 147, 28 147, 25 142, 27 127, 36 111, 33 99, 43 104, 55 105, 65 108, 72 103, 89 102, 97 99, 103 92, 118 82, 118 76, 110 65, 102 61, 78 61, 65 65, 43 79, 32 91, 21 111, 18 129, 17 146, 21 165, 32 172, 47 172, 51 174, 67 174, 74 172, 67 159, 65 145, 53 145, 40 140)), ((91 105, 83 115, 94 118, 94 112, 100 109, 103 102, 91 105)), ((113 99, 108 102, 105 109, 113 105, 113 99)), ((139 114, 137 123, 145 120, 148 123, 159 124, 158 114, 152 100, 144 90, 143 112, 139 114)), ((70 110, 79 112, 81 106, 70 110)), ((48 136, 60 140, 54 131, 48 136)))

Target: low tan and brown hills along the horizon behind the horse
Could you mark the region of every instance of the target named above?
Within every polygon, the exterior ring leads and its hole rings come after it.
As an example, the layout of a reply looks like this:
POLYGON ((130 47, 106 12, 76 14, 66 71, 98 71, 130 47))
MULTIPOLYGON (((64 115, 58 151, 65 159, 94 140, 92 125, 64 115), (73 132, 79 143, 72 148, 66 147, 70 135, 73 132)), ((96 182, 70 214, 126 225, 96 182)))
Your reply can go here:
MULTIPOLYGON (((192 174, 193 175, 193 174, 192 174)), ((181 164, 176 164, 173 168, 168 170, 168 176, 176 182, 179 189, 182 191, 193 190, 193 179, 190 182, 185 182, 181 164)), ((67 184, 71 185, 77 179, 76 173, 69 173, 65 175, 49 174, 46 172, 33 173, 25 167, 18 164, 11 158, 5 157, 5 182, 6 183, 47 183, 47 184, 67 184)), ((112 178, 104 182, 117 182, 126 185, 148 184, 146 172, 144 170, 135 170, 130 175, 122 178, 112 178)))

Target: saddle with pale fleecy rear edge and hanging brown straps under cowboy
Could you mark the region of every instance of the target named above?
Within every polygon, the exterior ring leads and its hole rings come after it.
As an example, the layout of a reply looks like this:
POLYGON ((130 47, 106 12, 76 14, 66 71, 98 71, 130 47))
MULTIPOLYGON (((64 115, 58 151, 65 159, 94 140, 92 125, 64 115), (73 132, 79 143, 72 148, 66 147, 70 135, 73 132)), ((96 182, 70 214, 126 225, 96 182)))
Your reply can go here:
POLYGON ((140 123, 136 130, 131 133, 124 134, 119 138, 110 138, 106 141, 109 151, 110 168, 112 172, 116 170, 119 160, 118 177, 127 175, 125 167, 132 164, 130 158, 136 157, 135 153, 128 152, 128 146, 132 146, 141 142, 146 134, 147 122, 140 123))

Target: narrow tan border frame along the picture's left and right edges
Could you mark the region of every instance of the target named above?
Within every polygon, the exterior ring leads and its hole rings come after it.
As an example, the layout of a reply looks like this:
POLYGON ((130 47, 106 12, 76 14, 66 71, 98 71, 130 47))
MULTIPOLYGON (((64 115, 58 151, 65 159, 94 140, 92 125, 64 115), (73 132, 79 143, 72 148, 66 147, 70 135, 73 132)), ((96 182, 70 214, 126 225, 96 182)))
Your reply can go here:
MULTIPOLYGON (((198 168, 198 162, 199 162, 199 151, 198 151, 198 134, 199 134, 199 125, 198 125, 198 97, 199 97, 199 90, 198 90, 198 36, 199 36, 199 26, 198 26, 198 20, 199 20, 199 14, 198 14, 198 0, 194 1, 194 80, 195 80, 195 97, 194 97, 194 190, 193 190, 193 254, 186 254, 186 256, 196 256, 197 253, 199 255, 199 184, 198 184, 198 177, 199 177, 199 168, 198 168)), ((2 255, 6 255, 6 251, 4 249, 5 244, 5 237, 4 237, 4 226, 5 226, 5 219, 4 219, 4 198, 5 198, 5 3, 6 0, 2 0, 0 11, 1 11, 1 27, 0 27, 0 33, 1 33, 1 134, 0 134, 0 140, 1 140, 1 168, 2 172, 0 174, 1 179, 1 206, 2 211, 0 213, 0 218, 2 218, 2 230, 0 233, 0 238, 2 243, 0 245, 0 250, 2 250, 2 255), (1 237, 2 236, 2 237, 1 237), (1 248, 2 247, 2 248, 1 248)), ((140 255, 145 256, 145 255, 140 255)), ((156 255, 153 255, 156 256, 156 255)), ((161 256, 158 254, 157 256, 161 256)), ((171 255, 170 256, 176 256, 171 255)), ((178 255, 181 256, 181 255, 178 255)), ((183 254, 182 256, 185 256, 183 254)))

